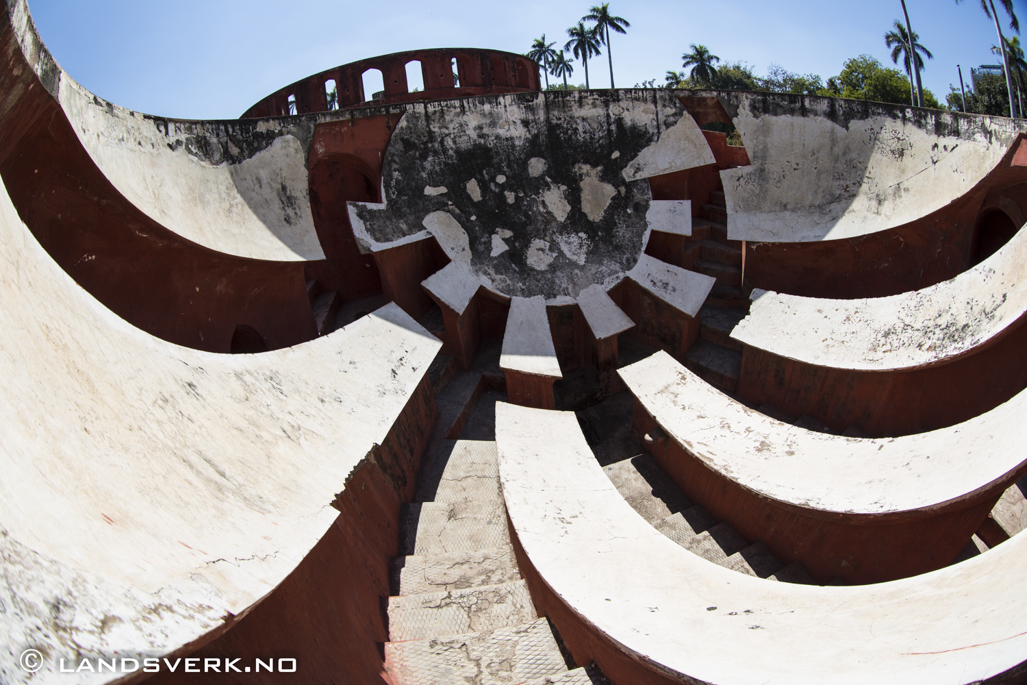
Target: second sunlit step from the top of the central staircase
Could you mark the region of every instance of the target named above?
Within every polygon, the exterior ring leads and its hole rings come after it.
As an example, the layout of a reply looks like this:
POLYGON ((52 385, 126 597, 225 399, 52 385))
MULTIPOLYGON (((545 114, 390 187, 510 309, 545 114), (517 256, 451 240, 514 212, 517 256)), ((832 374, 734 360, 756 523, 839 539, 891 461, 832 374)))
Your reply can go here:
POLYGON ((400 554, 443 555, 509 546, 502 501, 401 505, 400 554))

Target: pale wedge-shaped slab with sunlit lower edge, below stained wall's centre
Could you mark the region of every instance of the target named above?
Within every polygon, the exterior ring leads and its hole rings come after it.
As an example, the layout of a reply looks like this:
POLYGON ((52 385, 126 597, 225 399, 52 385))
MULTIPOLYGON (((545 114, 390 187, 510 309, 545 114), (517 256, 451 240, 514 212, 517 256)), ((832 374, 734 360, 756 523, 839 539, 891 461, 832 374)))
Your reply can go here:
POLYGON ((499 368, 563 378, 549 333, 549 317, 545 314, 545 298, 541 295, 510 298, 499 368))

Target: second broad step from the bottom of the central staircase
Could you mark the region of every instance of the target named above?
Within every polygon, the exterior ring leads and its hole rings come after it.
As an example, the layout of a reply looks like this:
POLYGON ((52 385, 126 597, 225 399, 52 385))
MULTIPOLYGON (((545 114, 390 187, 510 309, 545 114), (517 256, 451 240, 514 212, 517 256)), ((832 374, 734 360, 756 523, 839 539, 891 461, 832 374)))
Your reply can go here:
POLYGON ((390 642, 495 631, 536 618, 524 580, 388 598, 390 642))

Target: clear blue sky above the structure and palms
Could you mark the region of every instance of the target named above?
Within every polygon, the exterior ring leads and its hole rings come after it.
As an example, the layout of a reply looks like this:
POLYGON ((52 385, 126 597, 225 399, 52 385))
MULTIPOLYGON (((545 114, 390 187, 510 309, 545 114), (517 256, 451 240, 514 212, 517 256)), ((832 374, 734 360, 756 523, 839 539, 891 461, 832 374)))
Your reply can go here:
MULTIPOLYGON (((231 119, 294 81, 365 58, 428 47, 526 52, 543 33, 559 47, 593 2, 30 0, 29 6, 61 66, 101 98, 158 116, 231 119)), ((941 102, 950 83, 958 87, 956 65, 968 82, 969 67, 1000 61, 990 51, 998 42, 994 24, 978 0, 906 4, 919 42, 935 55, 923 86, 941 102)), ((1014 6, 1027 31, 1027 0, 1014 6)), ((661 83, 669 69, 681 69, 691 43, 761 76, 777 64, 827 79, 862 53, 890 65, 883 36, 902 17, 900 0, 611 0, 610 9, 632 24, 611 40, 619 87, 661 83)), ((593 87, 609 87, 605 48, 588 73, 593 87)), ((584 82, 579 63, 572 81, 584 82)))

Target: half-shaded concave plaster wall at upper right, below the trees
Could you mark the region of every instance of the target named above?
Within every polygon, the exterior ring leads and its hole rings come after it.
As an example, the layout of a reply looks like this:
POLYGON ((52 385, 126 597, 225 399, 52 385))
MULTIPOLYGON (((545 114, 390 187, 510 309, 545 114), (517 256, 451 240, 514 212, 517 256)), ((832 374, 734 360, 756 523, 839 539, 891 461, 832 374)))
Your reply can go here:
POLYGON ((1027 125, 828 98, 717 92, 751 166, 721 172, 733 240, 850 238, 969 191, 1027 125))

